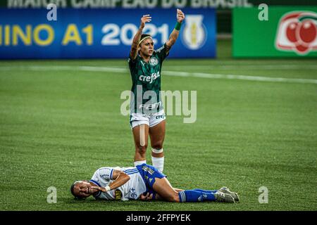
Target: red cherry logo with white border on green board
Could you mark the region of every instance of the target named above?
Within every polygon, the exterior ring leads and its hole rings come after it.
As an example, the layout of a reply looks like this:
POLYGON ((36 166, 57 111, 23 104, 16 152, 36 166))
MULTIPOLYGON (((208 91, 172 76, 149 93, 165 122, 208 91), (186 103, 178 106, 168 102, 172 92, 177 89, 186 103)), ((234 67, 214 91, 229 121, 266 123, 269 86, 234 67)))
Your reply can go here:
POLYGON ((298 55, 317 51, 317 13, 293 11, 283 15, 278 24, 275 48, 298 55))

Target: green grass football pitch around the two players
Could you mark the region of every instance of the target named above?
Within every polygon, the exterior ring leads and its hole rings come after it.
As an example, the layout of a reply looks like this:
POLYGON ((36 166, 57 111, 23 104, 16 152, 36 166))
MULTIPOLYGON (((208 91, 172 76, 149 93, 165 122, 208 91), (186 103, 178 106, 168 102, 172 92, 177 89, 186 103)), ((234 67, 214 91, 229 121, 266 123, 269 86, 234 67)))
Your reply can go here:
POLYGON ((219 41, 216 60, 164 63, 163 90, 197 91, 194 124, 167 117, 164 173, 179 188, 228 186, 240 203, 73 200, 73 181, 133 165, 128 116, 120 115, 128 65, 15 60, 0 62, 0 210, 317 210, 317 60, 237 60, 230 51, 230 41, 219 41), (46 202, 49 186, 56 204, 46 202))

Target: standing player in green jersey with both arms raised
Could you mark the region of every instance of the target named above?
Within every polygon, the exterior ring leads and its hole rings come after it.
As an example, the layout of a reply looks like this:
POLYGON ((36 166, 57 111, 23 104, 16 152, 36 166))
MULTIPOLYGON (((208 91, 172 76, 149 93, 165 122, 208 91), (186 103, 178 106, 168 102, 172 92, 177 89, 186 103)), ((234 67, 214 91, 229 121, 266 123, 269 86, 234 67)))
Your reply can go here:
POLYGON ((166 131, 165 113, 161 102, 161 68, 170 48, 178 39, 184 13, 177 9, 177 23, 166 43, 154 51, 154 41, 142 34, 150 15, 143 15, 139 30, 132 41, 129 68, 132 77, 130 125, 135 140, 135 166, 146 163, 148 138, 151 140, 152 164, 163 172, 163 141, 166 131))

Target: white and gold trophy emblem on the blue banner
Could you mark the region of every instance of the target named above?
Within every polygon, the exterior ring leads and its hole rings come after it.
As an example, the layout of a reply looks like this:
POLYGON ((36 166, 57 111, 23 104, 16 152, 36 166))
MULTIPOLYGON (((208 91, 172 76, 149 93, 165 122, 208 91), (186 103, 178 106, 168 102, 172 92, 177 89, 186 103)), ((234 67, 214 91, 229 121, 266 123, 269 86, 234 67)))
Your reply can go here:
POLYGON ((182 33, 182 43, 187 49, 197 50, 204 46, 207 30, 203 23, 204 15, 186 15, 182 33))

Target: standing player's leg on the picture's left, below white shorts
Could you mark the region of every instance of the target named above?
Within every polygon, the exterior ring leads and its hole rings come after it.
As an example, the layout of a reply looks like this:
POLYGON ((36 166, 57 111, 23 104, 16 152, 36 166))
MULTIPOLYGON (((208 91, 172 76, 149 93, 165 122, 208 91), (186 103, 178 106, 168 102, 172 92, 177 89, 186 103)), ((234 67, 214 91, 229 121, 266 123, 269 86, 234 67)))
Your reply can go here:
POLYGON ((132 133, 135 140, 135 166, 147 163, 146 153, 149 139, 149 125, 136 125, 132 128, 132 133))

